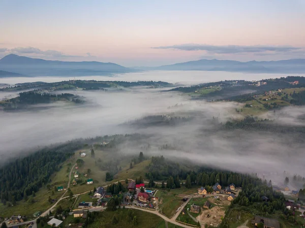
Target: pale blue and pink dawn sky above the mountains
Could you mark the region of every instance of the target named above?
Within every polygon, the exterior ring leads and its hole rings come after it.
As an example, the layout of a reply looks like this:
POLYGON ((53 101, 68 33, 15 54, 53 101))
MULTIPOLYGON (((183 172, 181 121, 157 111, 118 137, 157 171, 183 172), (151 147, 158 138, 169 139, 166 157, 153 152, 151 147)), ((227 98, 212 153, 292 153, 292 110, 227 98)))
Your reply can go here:
POLYGON ((0 57, 160 66, 305 58, 305 1, 0 1, 0 57))

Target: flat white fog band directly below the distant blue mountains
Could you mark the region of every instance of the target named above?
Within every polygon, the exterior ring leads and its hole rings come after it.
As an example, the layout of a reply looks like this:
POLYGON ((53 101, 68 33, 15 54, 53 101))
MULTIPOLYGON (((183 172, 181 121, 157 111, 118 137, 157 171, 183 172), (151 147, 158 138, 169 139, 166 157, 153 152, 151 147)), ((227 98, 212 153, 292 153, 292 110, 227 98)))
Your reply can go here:
MULTIPOLYGON (((58 82, 63 80, 98 80, 98 81, 166 81, 182 85, 193 85, 222 80, 261 80, 266 78, 286 77, 285 74, 247 74, 236 72, 212 71, 144 71, 137 73, 114 74, 109 76, 84 76, 84 77, 20 77, 1 78, 0 83, 16 84, 24 82, 58 82)), ((294 74, 294 76, 302 76, 294 74)))

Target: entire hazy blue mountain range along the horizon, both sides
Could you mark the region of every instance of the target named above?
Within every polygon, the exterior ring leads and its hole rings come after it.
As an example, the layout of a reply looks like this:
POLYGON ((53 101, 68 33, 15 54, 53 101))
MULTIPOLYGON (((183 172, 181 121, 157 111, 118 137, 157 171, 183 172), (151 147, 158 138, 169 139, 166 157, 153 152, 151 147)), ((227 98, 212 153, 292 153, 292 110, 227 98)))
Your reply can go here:
POLYGON ((98 76, 145 70, 162 71, 227 71, 245 73, 305 73, 305 59, 279 61, 248 61, 200 59, 160 67, 126 68, 111 62, 54 61, 9 54, 0 59, 0 77, 36 76, 98 76), (12 73, 15 72, 15 73, 12 73), (4 75, 7 74, 7 75, 4 75), (17 74, 17 75, 13 75, 17 74), (19 74, 19 75, 18 75, 19 74))

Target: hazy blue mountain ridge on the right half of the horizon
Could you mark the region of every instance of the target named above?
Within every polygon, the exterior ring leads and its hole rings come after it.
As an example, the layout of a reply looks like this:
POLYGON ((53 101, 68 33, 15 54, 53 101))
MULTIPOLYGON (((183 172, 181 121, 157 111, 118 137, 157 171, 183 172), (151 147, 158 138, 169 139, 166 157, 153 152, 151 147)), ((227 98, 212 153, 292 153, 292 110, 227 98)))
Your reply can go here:
MULTIPOLYGON (((144 70, 144 69, 143 69, 144 70)), ((150 70, 165 71, 229 71, 249 73, 305 73, 305 59, 248 61, 200 59, 165 65, 150 70)))

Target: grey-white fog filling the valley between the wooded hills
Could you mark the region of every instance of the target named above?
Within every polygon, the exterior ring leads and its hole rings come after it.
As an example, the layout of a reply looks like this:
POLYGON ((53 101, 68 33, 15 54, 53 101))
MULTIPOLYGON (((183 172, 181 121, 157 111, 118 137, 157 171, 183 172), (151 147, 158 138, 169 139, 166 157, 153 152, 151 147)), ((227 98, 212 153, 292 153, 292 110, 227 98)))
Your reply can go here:
MULTIPOLYGON (((167 81, 165 79, 160 77, 156 80, 167 81)), ((209 80, 217 81, 214 78, 209 80)), ((0 111, 0 165, 9 158, 34 151, 33 148, 37 146, 76 138, 139 133, 147 137, 136 143, 119 145, 121 153, 134 155, 141 146, 149 143, 151 150, 145 152, 149 155, 162 154, 172 160, 191 160, 200 166, 261 175, 283 174, 285 170, 305 176, 304 144, 296 141, 295 136, 216 130, 213 117, 219 123, 242 118, 235 112, 239 106, 237 103, 191 101, 188 96, 161 90, 134 87, 121 91, 77 91, 78 95, 85 97, 85 104, 57 102, 36 105, 22 112, 0 111), (129 124, 130 121, 149 115, 192 118, 174 126, 129 124), (173 149, 159 150, 165 144, 171 145, 173 149)), ((274 119, 275 123, 280 124, 302 125, 304 113, 303 107, 287 107, 261 117, 274 119)))

